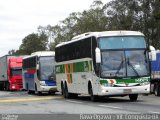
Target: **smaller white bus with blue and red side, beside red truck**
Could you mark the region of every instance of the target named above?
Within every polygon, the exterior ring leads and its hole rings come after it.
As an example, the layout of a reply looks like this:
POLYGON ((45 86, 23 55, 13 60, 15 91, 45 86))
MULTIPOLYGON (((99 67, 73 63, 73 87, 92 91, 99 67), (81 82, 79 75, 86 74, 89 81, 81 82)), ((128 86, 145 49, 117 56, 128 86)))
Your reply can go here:
POLYGON ((23 88, 28 93, 42 94, 57 91, 55 80, 55 52, 39 51, 23 59, 23 88))

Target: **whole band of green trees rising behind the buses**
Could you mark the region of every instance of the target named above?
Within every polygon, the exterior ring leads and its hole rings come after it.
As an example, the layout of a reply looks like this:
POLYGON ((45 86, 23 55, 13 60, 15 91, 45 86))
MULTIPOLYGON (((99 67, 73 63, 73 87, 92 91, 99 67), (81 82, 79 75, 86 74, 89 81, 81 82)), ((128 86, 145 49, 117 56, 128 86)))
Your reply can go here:
POLYGON ((141 31, 160 49, 160 0, 112 0, 106 4, 95 0, 88 10, 73 12, 55 26, 39 26, 38 34, 25 37, 15 53, 54 50, 75 35, 106 30, 141 31))

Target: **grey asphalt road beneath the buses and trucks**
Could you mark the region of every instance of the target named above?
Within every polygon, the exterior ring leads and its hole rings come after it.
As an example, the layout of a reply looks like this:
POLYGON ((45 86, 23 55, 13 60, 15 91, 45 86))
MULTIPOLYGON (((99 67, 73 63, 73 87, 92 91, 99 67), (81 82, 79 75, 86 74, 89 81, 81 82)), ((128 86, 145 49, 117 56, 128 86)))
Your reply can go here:
POLYGON ((25 91, 0 91, 0 114, 27 114, 24 119, 30 119, 28 117, 31 116, 34 118, 34 115, 42 118, 46 114, 49 114, 47 117, 51 115, 51 118, 54 115, 57 120, 57 115, 61 115, 62 118, 66 118, 65 115, 70 115, 69 119, 71 120, 75 119, 74 115, 80 119, 80 115, 83 114, 140 113, 160 114, 160 97, 140 95, 136 102, 131 102, 128 96, 112 97, 100 99, 98 102, 91 102, 89 96, 64 99, 59 93, 56 95, 45 94, 38 96, 28 95, 25 91))

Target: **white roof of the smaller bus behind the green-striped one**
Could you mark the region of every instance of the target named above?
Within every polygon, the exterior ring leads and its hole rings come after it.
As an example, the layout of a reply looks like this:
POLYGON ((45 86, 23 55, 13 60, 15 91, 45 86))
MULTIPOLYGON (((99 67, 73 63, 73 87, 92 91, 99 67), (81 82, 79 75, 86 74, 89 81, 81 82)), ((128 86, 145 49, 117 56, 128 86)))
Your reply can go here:
POLYGON ((24 59, 30 58, 33 56, 38 56, 38 57, 40 57, 40 56, 55 56, 55 52, 54 51, 37 51, 37 52, 31 53, 31 55, 29 55, 29 56, 24 57, 24 59))

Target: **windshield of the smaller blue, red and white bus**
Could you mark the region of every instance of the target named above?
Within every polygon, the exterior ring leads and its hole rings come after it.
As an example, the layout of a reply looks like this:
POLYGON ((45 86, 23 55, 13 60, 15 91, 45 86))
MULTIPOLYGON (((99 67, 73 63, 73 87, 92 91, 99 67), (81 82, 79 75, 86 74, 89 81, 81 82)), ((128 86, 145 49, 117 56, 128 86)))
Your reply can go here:
POLYGON ((40 57, 41 80, 55 79, 54 57, 40 57))

